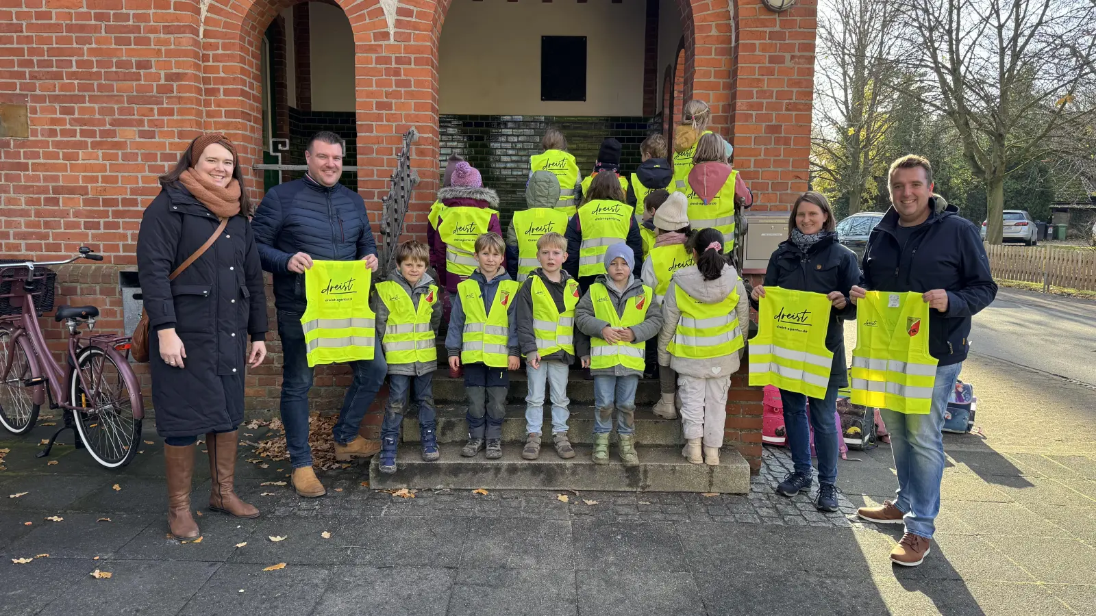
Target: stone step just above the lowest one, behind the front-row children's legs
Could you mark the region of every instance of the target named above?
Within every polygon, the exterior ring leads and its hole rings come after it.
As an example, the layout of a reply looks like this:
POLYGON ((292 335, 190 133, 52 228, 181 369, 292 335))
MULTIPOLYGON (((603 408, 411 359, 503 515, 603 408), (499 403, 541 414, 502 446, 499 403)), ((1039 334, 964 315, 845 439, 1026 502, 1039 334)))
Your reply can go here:
MULTIPOLYGON (((545 432, 551 432, 551 406, 545 404, 545 432)), ((570 427, 571 443, 593 443, 594 441, 594 408, 589 404, 571 404, 571 417, 567 424, 570 427)), ((460 443, 468 440, 468 423, 465 421, 467 408, 463 404, 446 404, 437 408, 437 442, 460 443)), ((609 442, 616 443, 614 432, 609 442)), ((419 419, 403 420, 403 442, 419 443, 419 419)), ((502 442, 517 444, 525 442, 525 404, 507 404, 506 417, 502 420, 502 442)), ((551 436, 546 435, 546 442, 551 436)), ((636 410, 636 442, 642 445, 681 445, 684 444, 681 420, 666 420, 655 417, 650 409, 636 410)))

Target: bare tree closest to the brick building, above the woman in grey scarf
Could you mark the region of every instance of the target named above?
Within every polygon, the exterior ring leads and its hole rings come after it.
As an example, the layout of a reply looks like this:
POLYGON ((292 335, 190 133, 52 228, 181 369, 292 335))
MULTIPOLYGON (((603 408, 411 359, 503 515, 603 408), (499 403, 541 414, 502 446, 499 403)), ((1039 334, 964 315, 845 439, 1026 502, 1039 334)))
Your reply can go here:
POLYGON ((812 163, 856 214, 891 124, 895 11, 886 0, 823 0, 819 15, 812 163))

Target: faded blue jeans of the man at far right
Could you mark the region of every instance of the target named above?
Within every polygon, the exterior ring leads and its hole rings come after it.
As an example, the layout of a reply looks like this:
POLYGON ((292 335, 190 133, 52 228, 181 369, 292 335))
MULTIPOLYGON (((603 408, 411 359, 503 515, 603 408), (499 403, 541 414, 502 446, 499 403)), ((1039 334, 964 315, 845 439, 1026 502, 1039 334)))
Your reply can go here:
POLYGON ((905 531, 927 539, 936 531, 940 512, 940 481, 944 479, 944 411, 956 387, 962 362, 936 368, 933 406, 928 414, 898 413, 879 409, 891 435, 894 468, 898 470, 898 499, 894 505, 905 512, 905 531))

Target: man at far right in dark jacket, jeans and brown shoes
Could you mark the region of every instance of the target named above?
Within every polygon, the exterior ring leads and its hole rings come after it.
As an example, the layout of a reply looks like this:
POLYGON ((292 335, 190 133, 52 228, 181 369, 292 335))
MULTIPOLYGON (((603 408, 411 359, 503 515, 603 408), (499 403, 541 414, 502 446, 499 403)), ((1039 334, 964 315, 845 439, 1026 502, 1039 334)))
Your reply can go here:
POLYGON ((871 231, 864 251, 864 287, 854 286, 853 300, 865 288, 916 292, 929 306, 928 352, 938 362, 932 410, 905 414, 880 409, 891 434, 897 499, 857 514, 881 524, 905 524, 902 540, 891 551, 898 564, 921 564, 928 554, 940 511, 944 479, 944 411, 970 350, 970 321, 997 295, 990 262, 974 225, 959 209, 933 195, 933 168, 917 156, 905 156, 890 168, 891 208, 871 231))

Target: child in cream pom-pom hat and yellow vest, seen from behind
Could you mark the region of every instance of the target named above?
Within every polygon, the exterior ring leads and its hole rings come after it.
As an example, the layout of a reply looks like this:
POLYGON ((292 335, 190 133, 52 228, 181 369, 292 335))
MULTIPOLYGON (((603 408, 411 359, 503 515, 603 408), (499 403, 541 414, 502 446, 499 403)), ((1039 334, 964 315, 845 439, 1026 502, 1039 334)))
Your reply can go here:
MULTIPOLYGON (((659 193, 665 192, 654 191, 647 201, 657 199, 659 193)), ((685 242, 693 235, 686 210, 685 193, 674 193, 664 198, 651 218, 658 235, 650 254, 643 260, 640 276, 644 285, 654 289, 654 303, 659 305, 659 310, 662 309, 662 296, 670 288, 670 278, 674 272, 694 264, 693 253, 685 248, 685 242)), ((649 354, 653 354, 658 363, 658 341, 649 346, 654 346, 649 354)), ((681 398, 676 396, 677 373, 669 364, 659 365, 659 391, 661 396, 651 409, 652 412, 662 419, 676 419, 677 409, 681 408, 681 398)))

